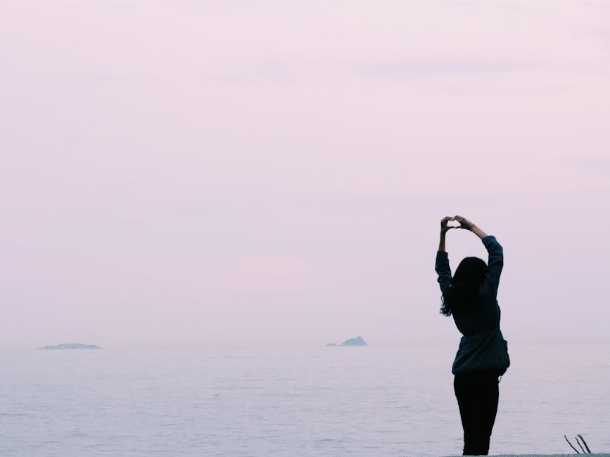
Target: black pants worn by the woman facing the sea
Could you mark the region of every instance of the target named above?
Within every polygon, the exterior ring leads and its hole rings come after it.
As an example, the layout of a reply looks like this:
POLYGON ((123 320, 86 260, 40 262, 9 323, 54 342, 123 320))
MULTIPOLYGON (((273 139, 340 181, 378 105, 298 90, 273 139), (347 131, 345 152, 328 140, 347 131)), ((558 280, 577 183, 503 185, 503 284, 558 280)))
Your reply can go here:
POLYGON ((475 371, 456 375, 453 388, 464 428, 464 456, 486 456, 495 422, 498 375, 475 371))

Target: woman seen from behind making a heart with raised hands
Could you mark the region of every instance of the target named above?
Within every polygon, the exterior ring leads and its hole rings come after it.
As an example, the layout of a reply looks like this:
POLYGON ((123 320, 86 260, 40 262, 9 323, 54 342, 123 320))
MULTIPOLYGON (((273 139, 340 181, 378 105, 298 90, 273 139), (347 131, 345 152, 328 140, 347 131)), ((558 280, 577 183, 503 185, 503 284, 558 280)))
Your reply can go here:
POLYGON ((510 365, 507 342, 500 332, 497 288, 504 257, 502 246, 493 236, 462 216, 440 221, 440 243, 436 273, 443 292, 440 312, 453 316, 462 340, 453 362, 453 387, 464 428, 464 456, 486 456, 497 413, 498 377, 510 365), (448 226, 457 221, 459 227, 448 226), (451 228, 462 228, 481 238, 489 254, 488 264, 477 257, 466 257, 451 276, 445 252, 445 235, 451 228))

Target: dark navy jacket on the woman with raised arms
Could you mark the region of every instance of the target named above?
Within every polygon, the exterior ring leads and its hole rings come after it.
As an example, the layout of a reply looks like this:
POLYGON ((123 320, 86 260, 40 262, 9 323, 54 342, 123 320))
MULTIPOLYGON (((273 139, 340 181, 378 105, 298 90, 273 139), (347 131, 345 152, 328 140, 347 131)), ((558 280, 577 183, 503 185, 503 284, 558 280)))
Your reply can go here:
MULTIPOLYGON (((510 365, 507 342, 500 331, 500 307, 497 304, 497 287, 504 265, 502 246, 493 236, 485 236, 483 245, 489 254, 488 272, 479 291, 483 301, 472 314, 452 314, 457 330, 463 335, 453 362, 454 375, 483 370, 502 375, 510 365)), ((447 252, 436 253, 436 273, 443 292, 452 278, 447 252)))

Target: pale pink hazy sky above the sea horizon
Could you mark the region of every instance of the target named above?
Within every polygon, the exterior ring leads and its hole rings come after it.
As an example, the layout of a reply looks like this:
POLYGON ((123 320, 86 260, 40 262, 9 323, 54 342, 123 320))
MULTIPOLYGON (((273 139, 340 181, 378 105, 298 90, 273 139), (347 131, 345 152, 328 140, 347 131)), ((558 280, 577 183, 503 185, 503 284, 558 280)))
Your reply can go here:
POLYGON ((0 347, 608 342, 604 2, 4 0, 0 347), (450 231, 452 266, 486 259, 450 231))

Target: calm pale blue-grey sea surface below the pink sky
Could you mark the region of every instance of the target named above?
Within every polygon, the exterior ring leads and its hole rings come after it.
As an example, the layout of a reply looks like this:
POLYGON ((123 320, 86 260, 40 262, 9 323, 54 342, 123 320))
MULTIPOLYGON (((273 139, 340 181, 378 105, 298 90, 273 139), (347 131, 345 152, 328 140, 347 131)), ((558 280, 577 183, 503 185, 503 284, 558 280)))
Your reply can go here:
MULTIPOLYGON (((446 456, 456 347, 0 352, 0 456, 446 456)), ((610 451, 610 346, 509 347, 490 453, 610 451)))

